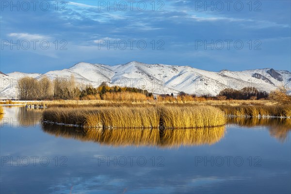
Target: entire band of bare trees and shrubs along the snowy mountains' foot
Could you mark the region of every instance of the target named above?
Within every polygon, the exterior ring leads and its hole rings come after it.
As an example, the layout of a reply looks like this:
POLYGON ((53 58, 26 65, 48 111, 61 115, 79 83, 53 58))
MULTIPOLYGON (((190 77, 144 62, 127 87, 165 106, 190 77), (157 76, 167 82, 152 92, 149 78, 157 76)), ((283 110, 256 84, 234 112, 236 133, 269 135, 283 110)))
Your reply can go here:
MULTIPOLYGON (((147 90, 138 89, 134 87, 120 87, 120 86, 108 86, 105 82, 101 83, 97 88, 91 85, 77 84, 74 76, 68 79, 55 78, 51 81, 48 77, 43 76, 41 79, 34 79, 31 77, 24 77, 18 81, 18 91, 17 94, 20 99, 23 100, 49 100, 49 99, 108 99, 108 98, 124 98, 129 95, 110 95, 118 93, 139 93, 147 97, 146 99, 154 99, 153 94, 147 90)), ((188 95, 184 92, 180 92, 177 97, 174 97, 173 93, 171 95, 160 95, 160 100, 175 101, 175 99, 185 99, 185 100, 201 100, 203 99, 268 99, 279 97, 278 94, 282 92, 271 92, 271 94, 266 91, 259 91, 255 87, 244 87, 240 90, 235 90, 232 88, 223 89, 217 96, 204 95, 202 97, 197 97, 196 95, 188 95)), ((290 97, 283 93, 281 99, 290 100, 290 97), (284 98, 283 98, 284 97, 284 98)), ((141 98, 141 96, 138 96, 141 98)))

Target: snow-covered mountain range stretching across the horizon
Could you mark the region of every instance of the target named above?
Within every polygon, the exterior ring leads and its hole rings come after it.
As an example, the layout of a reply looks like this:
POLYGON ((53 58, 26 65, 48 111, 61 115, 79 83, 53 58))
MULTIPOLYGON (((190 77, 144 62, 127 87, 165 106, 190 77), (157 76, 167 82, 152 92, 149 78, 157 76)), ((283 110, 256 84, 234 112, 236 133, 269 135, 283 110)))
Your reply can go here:
POLYGON ((291 72, 286 70, 265 68, 211 72, 190 66, 144 64, 133 61, 114 66, 78 63, 68 69, 49 71, 45 74, 0 73, 0 95, 1 98, 15 97, 17 80, 25 76, 35 79, 47 76, 53 80, 57 77, 67 79, 72 75, 76 82, 82 85, 90 84, 97 87, 105 81, 111 86, 136 87, 154 94, 178 94, 183 91, 196 95, 217 95, 226 87, 241 89, 248 86, 267 92, 283 85, 291 88, 291 72))

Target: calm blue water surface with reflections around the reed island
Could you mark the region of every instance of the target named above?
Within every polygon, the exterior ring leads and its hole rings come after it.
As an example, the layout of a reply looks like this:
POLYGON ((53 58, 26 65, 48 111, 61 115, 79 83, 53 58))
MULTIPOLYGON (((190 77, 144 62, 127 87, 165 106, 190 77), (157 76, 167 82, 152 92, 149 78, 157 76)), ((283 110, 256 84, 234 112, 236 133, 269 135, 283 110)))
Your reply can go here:
POLYGON ((4 111, 0 193, 291 193, 290 120, 84 131, 4 111))

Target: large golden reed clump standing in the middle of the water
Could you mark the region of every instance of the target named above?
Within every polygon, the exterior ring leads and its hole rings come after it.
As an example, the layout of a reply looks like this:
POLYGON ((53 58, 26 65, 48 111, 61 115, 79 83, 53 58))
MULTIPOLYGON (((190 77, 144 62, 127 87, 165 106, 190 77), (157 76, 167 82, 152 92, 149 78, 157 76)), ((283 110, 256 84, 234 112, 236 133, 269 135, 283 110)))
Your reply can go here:
POLYGON ((102 128, 200 128, 225 124, 224 113, 210 106, 56 108, 44 121, 102 128))

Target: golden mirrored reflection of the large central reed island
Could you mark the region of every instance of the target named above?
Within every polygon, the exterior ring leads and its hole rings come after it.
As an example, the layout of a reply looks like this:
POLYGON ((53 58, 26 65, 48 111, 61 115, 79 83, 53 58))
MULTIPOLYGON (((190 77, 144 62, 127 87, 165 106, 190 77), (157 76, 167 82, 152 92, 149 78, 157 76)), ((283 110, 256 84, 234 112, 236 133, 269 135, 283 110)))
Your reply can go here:
POLYGON ((198 146, 211 145, 224 137, 225 127, 201 129, 82 129, 43 124, 55 136, 93 141, 112 146, 198 146))

